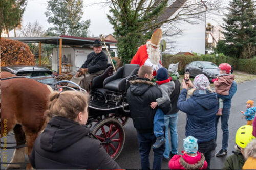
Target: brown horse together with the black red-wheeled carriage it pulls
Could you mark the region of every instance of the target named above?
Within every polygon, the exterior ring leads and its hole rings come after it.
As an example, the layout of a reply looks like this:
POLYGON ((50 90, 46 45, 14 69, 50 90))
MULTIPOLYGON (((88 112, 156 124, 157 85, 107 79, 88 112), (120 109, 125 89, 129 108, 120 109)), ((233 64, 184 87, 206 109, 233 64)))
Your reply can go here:
MULTIPOLYGON (((113 74, 113 67, 109 66, 103 74, 95 77, 90 85, 89 118, 87 126, 101 141, 109 155, 116 159, 121 153, 125 141, 123 126, 130 117, 126 100, 129 81, 133 80, 139 70, 139 65, 125 64, 113 74)), ((67 86, 71 81, 59 81, 55 90, 79 90, 67 86)), ((52 92, 50 86, 26 77, 19 77, 9 72, 1 72, 1 120, 6 120, 7 126, 1 121, 1 137, 12 129, 16 139, 16 146, 6 147, 12 142, 3 142, 1 148, 15 149, 12 160, 1 164, 9 164, 8 168, 20 168, 25 160, 25 148, 31 153, 33 143, 44 129, 47 118, 48 96, 52 92), (6 126, 6 127, 5 127, 6 126)), ((5 139, 4 139, 5 140, 5 139)), ((27 168, 31 168, 28 164, 27 168)))

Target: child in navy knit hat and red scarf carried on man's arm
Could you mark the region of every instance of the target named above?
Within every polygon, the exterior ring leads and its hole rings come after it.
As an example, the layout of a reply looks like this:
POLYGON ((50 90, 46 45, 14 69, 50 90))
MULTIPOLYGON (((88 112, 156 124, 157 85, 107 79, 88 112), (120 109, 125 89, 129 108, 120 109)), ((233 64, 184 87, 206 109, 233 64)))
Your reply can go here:
POLYGON ((162 92, 162 97, 157 98, 156 102, 151 103, 151 108, 155 109, 158 106, 156 114, 154 116, 154 134, 157 138, 156 143, 153 144, 153 148, 159 148, 165 143, 164 138, 164 114, 168 114, 172 110, 172 103, 170 103, 170 94, 172 94, 175 84, 172 81, 172 77, 169 77, 168 70, 166 68, 159 68, 157 70, 157 87, 162 92))

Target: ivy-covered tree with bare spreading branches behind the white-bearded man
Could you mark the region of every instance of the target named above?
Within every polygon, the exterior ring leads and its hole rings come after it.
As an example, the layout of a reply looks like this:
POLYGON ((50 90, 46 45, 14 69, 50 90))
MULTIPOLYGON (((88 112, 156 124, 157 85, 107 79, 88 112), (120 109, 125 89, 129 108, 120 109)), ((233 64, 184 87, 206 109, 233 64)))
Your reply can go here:
POLYGON ((108 19, 118 40, 118 55, 124 63, 129 62, 136 48, 156 28, 164 27, 165 34, 174 36, 181 33, 177 22, 196 24, 205 19, 206 11, 220 14, 223 10, 222 0, 111 0, 94 4, 110 6, 108 19))

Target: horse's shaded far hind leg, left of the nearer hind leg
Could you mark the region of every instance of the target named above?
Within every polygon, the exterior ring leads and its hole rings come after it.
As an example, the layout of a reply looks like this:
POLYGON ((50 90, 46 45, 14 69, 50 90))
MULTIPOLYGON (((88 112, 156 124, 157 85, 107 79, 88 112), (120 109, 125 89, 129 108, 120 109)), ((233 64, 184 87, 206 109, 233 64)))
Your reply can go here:
MULTIPOLYGON (((21 125, 16 124, 16 126, 13 128, 13 132, 17 142, 16 144, 17 147, 26 143, 26 136, 21 125)), ((25 151, 25 147, 16 148, 10 163, 24 162, 25 161, 24 151, 25 151)), ((20 169, 20 168, 21 166, 19 164, 9 164, 7 166, 7 169, 20 169)))

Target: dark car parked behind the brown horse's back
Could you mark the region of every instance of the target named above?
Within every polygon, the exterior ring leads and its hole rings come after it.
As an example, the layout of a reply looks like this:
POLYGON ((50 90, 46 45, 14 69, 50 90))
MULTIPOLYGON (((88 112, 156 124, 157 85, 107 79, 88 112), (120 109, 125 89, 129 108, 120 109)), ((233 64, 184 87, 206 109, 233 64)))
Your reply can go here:
POLYGON ((54 88, 57 80, 53 76, 52 71, 41 66, 26 66, 26 65, 12 65, 3 66, 1 71, 7 71, 17 76, 25 76, 31 79, 49 77, 46 79, 37 80, 38 82, 47 84, 54 88))

